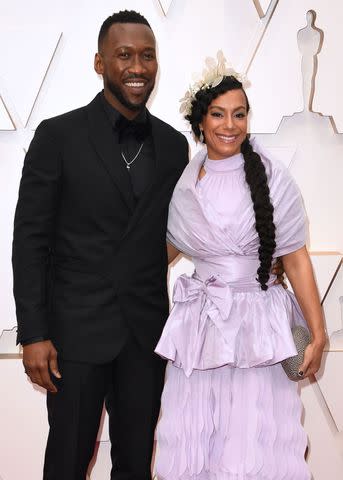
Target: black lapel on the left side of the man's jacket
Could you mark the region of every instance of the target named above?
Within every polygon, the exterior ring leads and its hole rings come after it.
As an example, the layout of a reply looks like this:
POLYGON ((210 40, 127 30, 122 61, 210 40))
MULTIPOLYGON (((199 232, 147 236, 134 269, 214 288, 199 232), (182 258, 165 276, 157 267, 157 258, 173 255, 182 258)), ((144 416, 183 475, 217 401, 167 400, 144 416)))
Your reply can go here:
POLYGON ((88 105, 90 139, 113 183, 120 191, 125 203, 133 212, 135 200, 130 177, 121 160, 119 144, 115 142, 113 130, 101 104, 100 93, 88 105))

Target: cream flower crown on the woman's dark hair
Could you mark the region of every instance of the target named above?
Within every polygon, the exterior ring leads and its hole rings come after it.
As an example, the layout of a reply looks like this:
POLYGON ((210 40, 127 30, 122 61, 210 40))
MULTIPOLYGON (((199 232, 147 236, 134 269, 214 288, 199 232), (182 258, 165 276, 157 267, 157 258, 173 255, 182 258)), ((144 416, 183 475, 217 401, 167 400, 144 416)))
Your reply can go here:
POLYGON ((227 65, 227 60, 221 50, 217 52, 217 60, 212 57, 205 59, 206 67, 202 71, 202 78, 199 75, 193 75, 194 84, 189 87, 185 96, 181 98, 180 113, 184 116, 190 115, 192 112, 192 102, 195 100, 195 95, 199 90, 206 90, 218 86, 224 77, 235 77, 243 84, 243 88, 249 86, 246 76, 238 73, 230 65, 227 65))

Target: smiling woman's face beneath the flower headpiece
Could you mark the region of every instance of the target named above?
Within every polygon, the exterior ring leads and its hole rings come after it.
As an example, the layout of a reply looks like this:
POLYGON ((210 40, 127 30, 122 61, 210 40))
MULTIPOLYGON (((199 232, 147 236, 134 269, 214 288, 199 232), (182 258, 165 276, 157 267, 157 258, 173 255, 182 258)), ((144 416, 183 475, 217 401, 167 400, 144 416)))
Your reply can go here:
POLYGON ((242 90, 229 90, 215 98, 201 124, 208 158, 221 160, 241 151, 247 136, 247 102, 242 90))

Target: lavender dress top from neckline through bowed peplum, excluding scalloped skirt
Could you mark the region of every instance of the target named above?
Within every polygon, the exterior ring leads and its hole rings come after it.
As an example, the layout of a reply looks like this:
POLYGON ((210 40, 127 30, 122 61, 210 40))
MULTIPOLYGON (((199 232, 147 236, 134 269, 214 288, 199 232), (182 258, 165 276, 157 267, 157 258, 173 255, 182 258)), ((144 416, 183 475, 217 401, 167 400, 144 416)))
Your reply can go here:
MULTIPOLYGON (((306 217, 287 169, 262 156, 276 225, 275 256, 301 248, 306 217)), ((195 274, 177 279, 174 307, 156 352, 186 375, 222 365, 272 365, 296 354, 291 326, 304 323, 294 296, 256 281, 259 240, 241 154, 208 160, 201 151, 176 185, 168 240, 191 256, 195 274), (198 181, 204 164, 206 175, 198 181)))

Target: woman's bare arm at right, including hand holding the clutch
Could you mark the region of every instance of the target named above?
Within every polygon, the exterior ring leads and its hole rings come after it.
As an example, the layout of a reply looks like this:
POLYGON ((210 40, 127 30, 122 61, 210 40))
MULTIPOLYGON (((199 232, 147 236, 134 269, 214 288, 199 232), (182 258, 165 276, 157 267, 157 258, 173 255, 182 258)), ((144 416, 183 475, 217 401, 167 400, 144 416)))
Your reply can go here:
POLYGON ((319 370, 326 342, 318 289, 306 247, 284 255, 282 263, 312 336, 299 368, 299 375, 308 377, 319 370))

